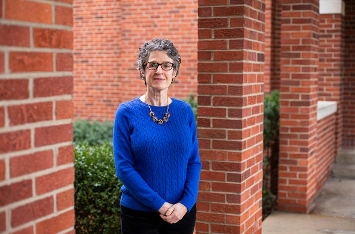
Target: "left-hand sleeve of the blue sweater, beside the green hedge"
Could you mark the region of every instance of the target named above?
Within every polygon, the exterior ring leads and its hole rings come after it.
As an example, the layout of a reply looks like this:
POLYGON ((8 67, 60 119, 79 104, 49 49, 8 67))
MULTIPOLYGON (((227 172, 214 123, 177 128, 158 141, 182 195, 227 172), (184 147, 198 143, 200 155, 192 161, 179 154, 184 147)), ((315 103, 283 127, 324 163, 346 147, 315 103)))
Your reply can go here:
POLYGON ((120 104, 116 111, 113 126, 113 153, 116 174, 137 201, 158 211, 165 203, 164 199, 151 189, 134 169, 129 120, 129 108, 120 104))

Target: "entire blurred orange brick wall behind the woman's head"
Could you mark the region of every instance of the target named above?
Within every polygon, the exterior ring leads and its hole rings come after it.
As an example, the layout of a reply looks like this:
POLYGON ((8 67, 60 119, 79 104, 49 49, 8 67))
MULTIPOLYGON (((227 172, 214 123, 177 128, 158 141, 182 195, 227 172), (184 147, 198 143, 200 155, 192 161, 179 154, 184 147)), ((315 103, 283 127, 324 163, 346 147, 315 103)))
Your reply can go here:
POLYGON ((197 0, 74 0, 74 103, 81 118, 113 120, 117 106, 145 92, 139 46, 171 39, 181 65, 169 96, 197 92, 197 0))

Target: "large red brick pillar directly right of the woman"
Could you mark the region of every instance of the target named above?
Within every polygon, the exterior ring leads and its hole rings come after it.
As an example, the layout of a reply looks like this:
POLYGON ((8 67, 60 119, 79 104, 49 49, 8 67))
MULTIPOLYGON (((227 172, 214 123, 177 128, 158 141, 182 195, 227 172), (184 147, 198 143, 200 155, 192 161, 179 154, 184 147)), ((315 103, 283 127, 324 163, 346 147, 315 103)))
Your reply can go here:
POLYGON ((200 234, 261 234, 264 12, 262 0, 199 1, 200 234))

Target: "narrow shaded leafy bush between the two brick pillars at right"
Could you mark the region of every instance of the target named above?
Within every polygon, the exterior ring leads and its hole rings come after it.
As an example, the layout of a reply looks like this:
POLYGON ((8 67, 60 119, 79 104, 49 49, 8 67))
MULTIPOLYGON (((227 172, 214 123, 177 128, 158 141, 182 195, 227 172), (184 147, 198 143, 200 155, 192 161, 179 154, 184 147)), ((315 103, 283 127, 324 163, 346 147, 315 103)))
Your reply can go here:
POLYGON ((280 93, 264 96, 263 219, 277 205, 277 173, 280 127, 280 93))

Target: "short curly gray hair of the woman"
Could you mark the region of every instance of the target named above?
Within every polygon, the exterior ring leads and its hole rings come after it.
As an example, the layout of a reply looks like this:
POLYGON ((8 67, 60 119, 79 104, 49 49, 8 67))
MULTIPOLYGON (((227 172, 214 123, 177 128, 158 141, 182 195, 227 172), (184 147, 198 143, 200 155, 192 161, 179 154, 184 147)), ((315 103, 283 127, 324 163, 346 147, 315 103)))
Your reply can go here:
MULTIPOLYGON (((145 71, 144 64, 148 62, 147 60, 149 58, 151 51, 166 52, 169 58, 173 60, 174 70, 178 73, 178 68, 180 67, 180 63, 181 63, 181 56, 179 55, 173 42, 163 38, 153 38, 151 41, 144 42, 143 45, 139 47, 138 60, 137 60, 139 71, 145 71)), ((142 76, 141 72, 140 72, 140 79, 144 80, 144 77, 142 76)))

